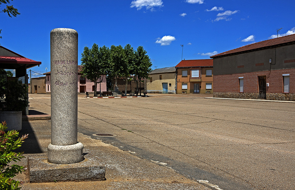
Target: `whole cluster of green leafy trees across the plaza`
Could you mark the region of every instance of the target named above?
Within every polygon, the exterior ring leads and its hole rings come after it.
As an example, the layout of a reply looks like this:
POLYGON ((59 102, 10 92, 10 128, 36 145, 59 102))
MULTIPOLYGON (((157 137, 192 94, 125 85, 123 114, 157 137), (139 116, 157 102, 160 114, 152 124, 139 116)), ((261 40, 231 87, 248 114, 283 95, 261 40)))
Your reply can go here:
MULTIPOLYGON (((128 80, 134 80, 138 84, 142 78, 148 78, 148 73, 152 71, 152 63, 143 47, 139 46, 137 50, 134 50, 130 44, 124 48, 121 45, 112 45, 111 48, 98 47, 97 44, 93 44, 91 49, 84 47, 81 61, 82 74, 94 82, 95 89, 97 84, 102 82, 104 75, 112 81, 112 88, 114 80, 117 86, 117 78, 124 77, 125 95, 128 80)), ((96 90, 94 90, 94 96, 96 96, 96 90)))

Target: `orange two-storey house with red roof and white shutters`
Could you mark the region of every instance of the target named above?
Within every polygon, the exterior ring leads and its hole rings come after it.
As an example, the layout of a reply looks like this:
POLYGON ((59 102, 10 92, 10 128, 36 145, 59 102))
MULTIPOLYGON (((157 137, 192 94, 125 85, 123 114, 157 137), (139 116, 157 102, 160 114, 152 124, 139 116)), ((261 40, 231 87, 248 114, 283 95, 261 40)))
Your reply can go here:
POLYGON ((213 93, 212 59, 181 60, 175 68, 177 94, 213 93))

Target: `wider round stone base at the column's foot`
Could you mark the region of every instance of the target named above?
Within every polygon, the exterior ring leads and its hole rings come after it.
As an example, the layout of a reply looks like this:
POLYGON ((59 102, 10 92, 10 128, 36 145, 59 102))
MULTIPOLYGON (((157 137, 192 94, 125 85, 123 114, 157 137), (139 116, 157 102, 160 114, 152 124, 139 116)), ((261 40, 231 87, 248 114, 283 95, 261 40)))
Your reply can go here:
POLYGON ((48 162, 67 164, 84 160, 83 144, 78 142, 73 145, 48 145, 48 162))

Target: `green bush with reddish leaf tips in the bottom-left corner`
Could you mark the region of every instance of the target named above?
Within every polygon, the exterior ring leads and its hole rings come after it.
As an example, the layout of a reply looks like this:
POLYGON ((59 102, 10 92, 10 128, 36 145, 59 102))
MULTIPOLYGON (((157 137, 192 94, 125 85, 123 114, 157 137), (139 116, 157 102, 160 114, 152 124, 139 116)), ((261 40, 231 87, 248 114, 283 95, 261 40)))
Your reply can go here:
POLYGON ((13 179, 19 172, 22 173, 25 168, 16 164, 9 165, 11 161, 20 161, 24 158, 23 152, 15 153, 13 150, 19 148, 24 142, 23 140, 28 137, 28 134, 18 137, 19 132, 16 130, 4 131, 6 129, 6 122, 0 123, 0 189, 20 189, 19 184, 22 181, 13 179))

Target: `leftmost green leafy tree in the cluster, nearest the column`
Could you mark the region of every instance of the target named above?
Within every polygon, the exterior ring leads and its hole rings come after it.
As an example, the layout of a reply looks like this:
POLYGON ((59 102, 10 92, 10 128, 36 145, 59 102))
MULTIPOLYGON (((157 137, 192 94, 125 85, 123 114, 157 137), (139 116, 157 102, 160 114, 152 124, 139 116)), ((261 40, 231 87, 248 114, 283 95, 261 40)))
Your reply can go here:
POLYGON ((97 96, 97 84, 101 83, 103 77, 109 70, 110 51, 106 46, 98 47, 93 44, 92 48, 84 47, 82 53, 82 74, 87 79, 94 82, 94 96, 97 96))

